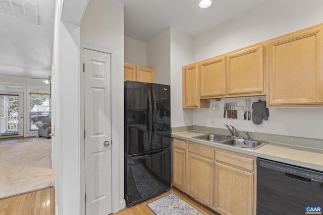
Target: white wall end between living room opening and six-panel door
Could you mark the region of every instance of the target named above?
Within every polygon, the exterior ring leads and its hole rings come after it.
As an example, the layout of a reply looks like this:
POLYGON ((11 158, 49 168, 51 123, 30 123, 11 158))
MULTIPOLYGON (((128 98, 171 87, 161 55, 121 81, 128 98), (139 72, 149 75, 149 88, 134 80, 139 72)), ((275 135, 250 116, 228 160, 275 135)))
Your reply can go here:
MULTIPOLYGON (((81 3, 81 1, 79 2, 81 3)), ((80 214, 79 27, 56 2, 52 59, 52 137, 56 214, 80 214), (55 128, 54 128, 55 126, 55 128)), ((66 7, 68 12, 70 8, 66 7)))

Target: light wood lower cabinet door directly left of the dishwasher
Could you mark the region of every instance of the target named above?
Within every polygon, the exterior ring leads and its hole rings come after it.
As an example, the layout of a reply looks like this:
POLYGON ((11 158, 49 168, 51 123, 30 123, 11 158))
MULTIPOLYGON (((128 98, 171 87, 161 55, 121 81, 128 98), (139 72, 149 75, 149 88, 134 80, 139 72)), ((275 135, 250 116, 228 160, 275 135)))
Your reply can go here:
POLYGON ((253 173, 216 163, 214 208, 221 214, 253 214, 253 173))

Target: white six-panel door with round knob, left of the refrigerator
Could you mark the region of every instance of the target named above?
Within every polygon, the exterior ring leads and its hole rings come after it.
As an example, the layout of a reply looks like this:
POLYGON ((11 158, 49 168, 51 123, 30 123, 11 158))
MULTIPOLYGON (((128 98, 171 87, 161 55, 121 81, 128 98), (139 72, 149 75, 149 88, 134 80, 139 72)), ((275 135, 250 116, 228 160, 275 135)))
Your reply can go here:
POLYGON ((86 214, 112 212, 111 55, 84 49, 86 214))

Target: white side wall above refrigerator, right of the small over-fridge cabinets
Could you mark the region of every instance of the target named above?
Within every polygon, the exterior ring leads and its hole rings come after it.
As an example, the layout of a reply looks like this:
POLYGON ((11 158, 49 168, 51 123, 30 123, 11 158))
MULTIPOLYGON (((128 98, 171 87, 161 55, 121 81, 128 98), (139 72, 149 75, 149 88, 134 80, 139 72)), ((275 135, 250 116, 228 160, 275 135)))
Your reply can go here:
POLYGON ((155 83, 171 84, 170 29, 147 42, 147 66, 155 68, 155 83))

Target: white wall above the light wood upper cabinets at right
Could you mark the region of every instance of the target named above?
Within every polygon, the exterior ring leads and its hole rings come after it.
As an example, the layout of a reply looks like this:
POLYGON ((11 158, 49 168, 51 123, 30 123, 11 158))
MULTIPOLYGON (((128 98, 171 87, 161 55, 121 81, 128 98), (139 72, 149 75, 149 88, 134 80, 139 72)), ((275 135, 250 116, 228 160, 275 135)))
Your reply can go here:
POLYGON ((270 0, 194 38, 194 61, 224 54, 323 22, 321 0, 270 0))

